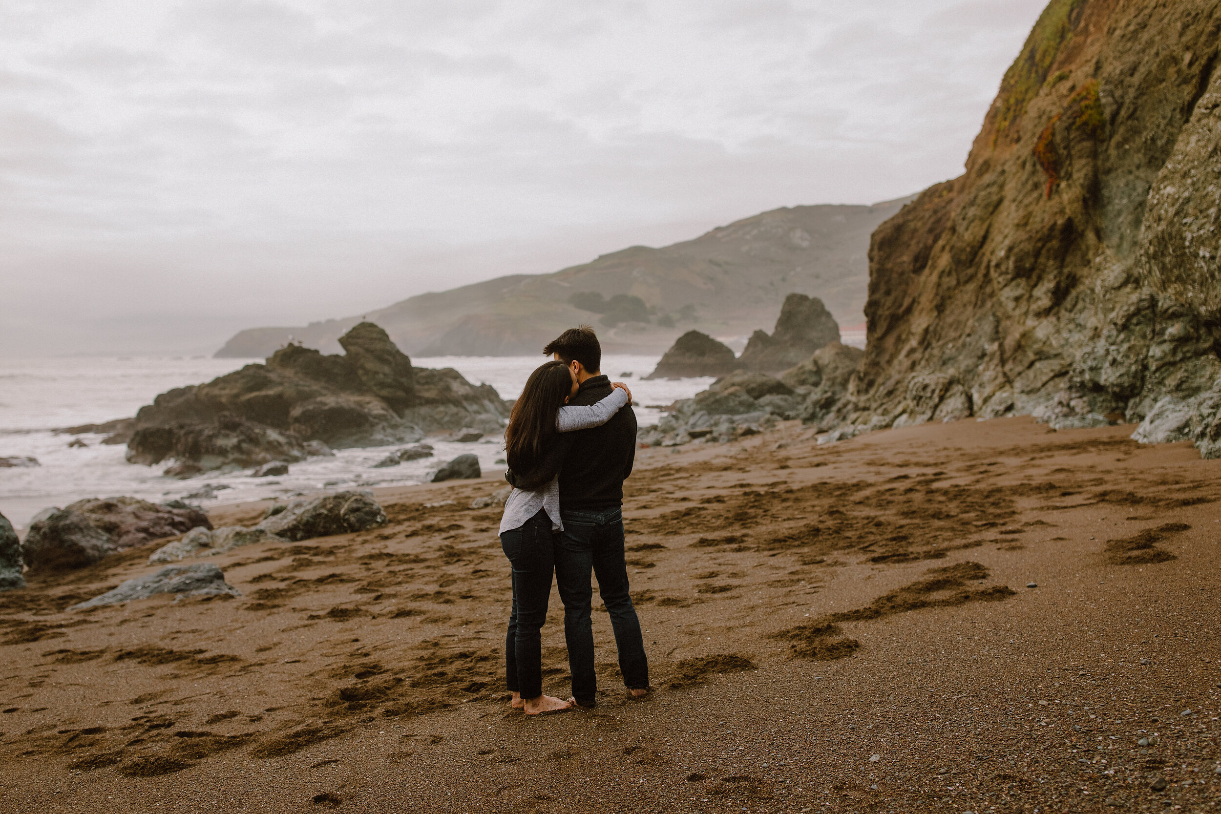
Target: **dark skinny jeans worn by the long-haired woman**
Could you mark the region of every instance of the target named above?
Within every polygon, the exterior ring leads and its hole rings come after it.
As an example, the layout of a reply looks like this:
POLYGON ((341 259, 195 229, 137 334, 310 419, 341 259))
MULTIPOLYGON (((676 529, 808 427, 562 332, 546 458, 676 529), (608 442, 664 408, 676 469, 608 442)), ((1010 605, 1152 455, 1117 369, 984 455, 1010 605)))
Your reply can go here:
POLYGON ((501 535, 501 548, 513 566, 513 613, 504 637, 504 680, 523 698, 542 694, 542 638, 551 577, 556 569, 554 533, 546 510, 520 528, 501 535))

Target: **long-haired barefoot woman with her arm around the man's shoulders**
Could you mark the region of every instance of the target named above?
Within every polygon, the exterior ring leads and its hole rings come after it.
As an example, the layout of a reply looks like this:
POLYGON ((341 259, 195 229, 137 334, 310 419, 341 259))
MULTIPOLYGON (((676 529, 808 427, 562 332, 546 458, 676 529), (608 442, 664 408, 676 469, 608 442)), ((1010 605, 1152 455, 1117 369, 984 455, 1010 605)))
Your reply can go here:
MULTIPOLYGON (((552 535, 559 521, 559 466, 569 442, 559 433, 606 423, 631 393, 623 382, 597 404, 565 406, 576 393, 576 375, 562 361, 548 361, 530 373, 513 404, 504 447, 516 483, 504 503, 501 548, 513 565, 513 611, 504 638, 505 681, 513 705, 527 715, 569 709, 567 701, 542 694, 542 643, 547 600, 556 560, 552 535)), ((508 477, 508 474, 505 475, 508 477)))

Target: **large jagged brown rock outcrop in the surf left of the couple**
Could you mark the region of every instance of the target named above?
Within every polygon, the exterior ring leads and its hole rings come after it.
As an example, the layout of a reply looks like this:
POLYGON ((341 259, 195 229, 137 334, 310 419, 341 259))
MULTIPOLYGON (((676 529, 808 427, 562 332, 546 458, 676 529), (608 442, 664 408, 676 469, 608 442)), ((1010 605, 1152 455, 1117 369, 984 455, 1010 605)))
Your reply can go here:
POLYGON ((291 464, 330 454, 324 444, 402 443, 466 426, 486 433, 508 417, 492 387, 473 386, 452 369, 411 367, 371 322, 339 343, 344 355, 291 344, 265 365, 158 395, 136 416, 127 460, 173 459, 199 471, 291 464))

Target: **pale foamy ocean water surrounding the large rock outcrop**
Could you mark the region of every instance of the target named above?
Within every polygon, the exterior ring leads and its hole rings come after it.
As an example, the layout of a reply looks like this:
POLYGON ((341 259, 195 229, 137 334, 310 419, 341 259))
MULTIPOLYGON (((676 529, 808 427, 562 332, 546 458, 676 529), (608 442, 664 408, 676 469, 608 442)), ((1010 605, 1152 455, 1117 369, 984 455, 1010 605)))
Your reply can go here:
MULTIPOLYGON (((602 370, 624 381, 639 405, 636 419, 656 423, 659 405, 690 398, 712 378, 659 380, 652 372, 659 356, 607 355, 602 370)), ((114 356, 63 359, 0 359, 0 458, 31 456, 39 466, 0 469, 0 513, 18 528, 48 506, 81 498, 131 494, 147 500, 183 498, 204 506, 319 489, 370 488, 420 483, 442 461, 463 453, 479 455, 480 465, 496 467, 503 458, 502 439, 476 443, 430 441, 436 455, 394 467, 372 469, 393 447, 338 449, 333 458, 313 458, 289 466, 280 477, 255 478, 249 471, 203 475, 188 481, 161 476, 167 464, 139 466, 123 460, 125 445, 103 445, 101 434, 67 436, 57 427, 100 423, 136 415, 158 393, 200 384, 261 359, 205 356, 114 356), (79 438, 85 447, 68 447, 79 438), (211 486, 214 497, 198 495, 211 486), (197 497, 192 497, 197 495, 197 497)), ((545 361, 541 356, 440 356, 413 359, 418 367, 454 367, 473 383, 486 382, 503 398, 516 398, 526 377, 545 361)))

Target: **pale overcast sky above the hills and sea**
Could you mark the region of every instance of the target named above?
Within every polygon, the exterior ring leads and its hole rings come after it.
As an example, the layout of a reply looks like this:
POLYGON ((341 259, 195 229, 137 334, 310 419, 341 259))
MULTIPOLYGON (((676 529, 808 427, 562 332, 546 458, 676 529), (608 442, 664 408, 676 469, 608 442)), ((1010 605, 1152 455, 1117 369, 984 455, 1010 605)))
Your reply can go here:
POLYGON ((0 354, 210 354, 917 192, 1043 5, 6 0, 0 354))

